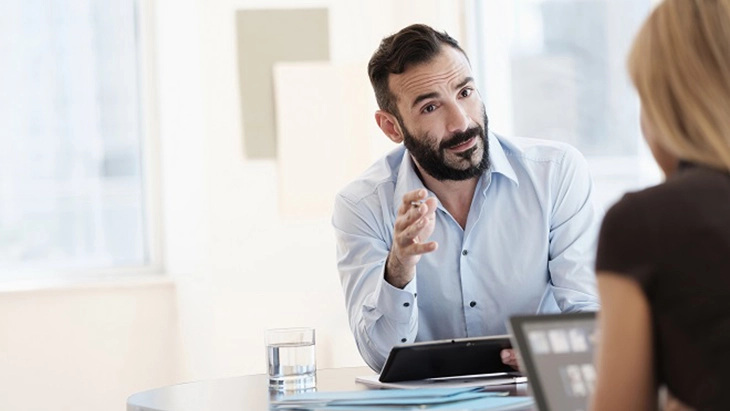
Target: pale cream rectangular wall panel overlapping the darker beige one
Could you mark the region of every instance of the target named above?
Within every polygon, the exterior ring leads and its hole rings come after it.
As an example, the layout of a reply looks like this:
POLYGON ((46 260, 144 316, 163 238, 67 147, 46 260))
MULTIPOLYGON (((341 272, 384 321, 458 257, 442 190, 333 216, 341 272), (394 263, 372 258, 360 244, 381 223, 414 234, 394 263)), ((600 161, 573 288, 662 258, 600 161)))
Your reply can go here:
POLYGON ((329 216, 337 192, 385 141, 365 64, 278 64, 274 68, 279 210, 282 217, 329 216))

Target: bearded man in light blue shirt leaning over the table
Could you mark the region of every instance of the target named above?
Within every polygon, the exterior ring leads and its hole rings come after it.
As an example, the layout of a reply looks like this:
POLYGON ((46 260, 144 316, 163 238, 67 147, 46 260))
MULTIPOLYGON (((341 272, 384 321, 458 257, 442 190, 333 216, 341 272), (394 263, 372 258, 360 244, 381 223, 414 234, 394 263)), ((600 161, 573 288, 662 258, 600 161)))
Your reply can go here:
MULTIPOLYGON (((504 334, 517 313, 597 310, 601 212, 580 154, 489 132, 446 33, 406 27, 368 71, 375 120, 403 146, 338 194, 332 219, 365 362, 379 371, 395 344, 504 334)), ((503 360, 516 364, 511 350, 503 360)))

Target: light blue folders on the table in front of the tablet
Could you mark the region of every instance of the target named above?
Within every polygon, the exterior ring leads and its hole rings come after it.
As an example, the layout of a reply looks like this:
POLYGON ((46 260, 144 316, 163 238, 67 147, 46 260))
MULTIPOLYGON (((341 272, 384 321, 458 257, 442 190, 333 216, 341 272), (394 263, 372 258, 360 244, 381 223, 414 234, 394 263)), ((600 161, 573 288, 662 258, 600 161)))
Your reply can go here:
POLYGON ((481 388, 393 389, 346 392, 306 392, 272 401, 271 410, 405 411, 519 410, 533 404, 530 397, 507 397, 481 388))

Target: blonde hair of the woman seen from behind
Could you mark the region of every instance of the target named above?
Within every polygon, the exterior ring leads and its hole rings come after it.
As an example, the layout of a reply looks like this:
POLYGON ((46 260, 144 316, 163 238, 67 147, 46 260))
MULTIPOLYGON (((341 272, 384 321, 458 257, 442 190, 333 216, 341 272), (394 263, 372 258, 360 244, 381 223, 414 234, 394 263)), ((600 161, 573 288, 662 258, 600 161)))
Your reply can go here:
POLYGON ((628 66, 659 144, 730 171, 730 0, 665 0, 628 66))

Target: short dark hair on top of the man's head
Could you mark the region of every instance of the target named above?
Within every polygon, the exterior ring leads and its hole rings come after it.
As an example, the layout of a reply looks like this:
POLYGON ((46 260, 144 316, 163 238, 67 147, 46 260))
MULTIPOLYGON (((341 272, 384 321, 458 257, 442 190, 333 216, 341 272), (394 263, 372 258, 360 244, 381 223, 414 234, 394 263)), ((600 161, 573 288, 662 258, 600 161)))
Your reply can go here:
POLYGON ((380 42, 368 63, 368 75, 375 90, 375 100, 381 110, 400 119, 397 98, 388 87, 389 76, 401 74, 413 65, 431 61, 441 52, 444 44, 464 53, 453 37, 425 24, 408 26, 380 42))

